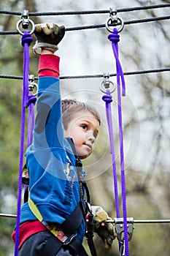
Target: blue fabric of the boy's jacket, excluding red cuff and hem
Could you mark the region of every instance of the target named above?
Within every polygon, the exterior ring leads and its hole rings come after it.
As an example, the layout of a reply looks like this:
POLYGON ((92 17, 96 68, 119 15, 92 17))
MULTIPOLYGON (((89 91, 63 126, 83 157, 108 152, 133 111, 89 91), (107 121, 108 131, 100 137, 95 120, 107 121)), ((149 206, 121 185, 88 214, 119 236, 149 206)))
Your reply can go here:
MULTIPOLYGON (((63 138, 59 78, 39 78, 33 144, 26 151, 30 197, 46 222, 61 224, 80 201, 76 159, 63 138)), ((20 223, 35 220, 28 203, 20 212, 20 223)), ((77 230, 82 242, 85 222, 77 230)))

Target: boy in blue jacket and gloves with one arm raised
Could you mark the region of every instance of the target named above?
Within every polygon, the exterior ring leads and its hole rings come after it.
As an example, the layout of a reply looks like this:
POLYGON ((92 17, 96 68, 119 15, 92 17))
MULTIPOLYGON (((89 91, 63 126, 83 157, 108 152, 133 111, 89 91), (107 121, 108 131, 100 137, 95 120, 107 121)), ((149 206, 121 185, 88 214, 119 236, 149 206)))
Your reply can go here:
MULTIPOLYGON (((61 103, 59 57, 54 55, 65 33, 56 24, 36 25, 39 91, 34 143, 26 151, 29 199, 21 208, 20 256, 87 255, 84 172, 81 159, 93 151, 100 117, 83 102, 61 103), (61 117, 62 105, 62 117, 61 117)), ((90 211, 90 206, 88 211, 90 211)), ((95 231, 106 247, 115 239, 111 223, 99 206, 93 207, 95 231)), ((15 241, 15 232, 12 234, 15 241)))

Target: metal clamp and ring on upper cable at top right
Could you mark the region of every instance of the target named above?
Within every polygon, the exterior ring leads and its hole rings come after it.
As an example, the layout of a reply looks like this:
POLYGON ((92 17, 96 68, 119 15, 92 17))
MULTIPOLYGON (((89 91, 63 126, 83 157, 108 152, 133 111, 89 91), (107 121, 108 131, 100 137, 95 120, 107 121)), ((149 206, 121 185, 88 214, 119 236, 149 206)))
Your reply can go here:
POLYGON ((120 17, 117 17, 117 10, 114 8, 109 8, 110 10, 110 17, 107 19, 107 22, 105 24, 107 30, 109 32, 112 32, 112 29, 109 28, 109 26, 117 26, 117 25, 120 25, 120 28, 117 29, 118 32, 122 31, 123 30, 123 27, 124 27, 124 22, 123 20, 120 18, 120 17), (120 21, 118 23, 118 21, 120 21))

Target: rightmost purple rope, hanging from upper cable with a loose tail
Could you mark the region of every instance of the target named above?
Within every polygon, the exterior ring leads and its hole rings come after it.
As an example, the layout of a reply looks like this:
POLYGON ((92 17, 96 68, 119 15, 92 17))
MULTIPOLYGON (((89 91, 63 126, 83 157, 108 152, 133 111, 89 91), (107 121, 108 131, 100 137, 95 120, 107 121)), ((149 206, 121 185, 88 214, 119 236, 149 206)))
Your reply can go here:
POLYGON ((108 39, 112 42, 112 50, 115 55, 117 69, 117 108, 119 121, 119 136, 120 136, 120 168, 121 168, 121 188, 123 199, 123 222, 124 222, 124 241, 125 241, 125 256, 128 256, 128 227, 127 227, 127 210, 126 210, 126 195, 125 195, 125 170, 124 170, 124 152, 123 152, 123 122, 122 122, 122 107, 121 107, 121 91, 120 79, 122 84, 122 95, 125 96, 125 80, 123 69, 118 57, 118 44, 120 36, 117 29, 114 29, 112 34, 109 34, 108 39))

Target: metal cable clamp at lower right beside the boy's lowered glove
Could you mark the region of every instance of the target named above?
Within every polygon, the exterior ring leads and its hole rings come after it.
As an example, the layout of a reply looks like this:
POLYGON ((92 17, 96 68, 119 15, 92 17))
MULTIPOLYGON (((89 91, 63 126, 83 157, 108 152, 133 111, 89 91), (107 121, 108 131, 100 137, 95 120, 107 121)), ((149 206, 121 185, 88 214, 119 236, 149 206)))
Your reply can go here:
MULTIPOLYGON (((123 218, 115 218, 115 230, 117 233, 117 240, 123 243, 124 224, 123 218)), ((128 227, 128 241, 131 241, 132 234, 134 231, 134 218, 127 218, 128 227)))

